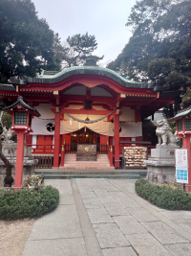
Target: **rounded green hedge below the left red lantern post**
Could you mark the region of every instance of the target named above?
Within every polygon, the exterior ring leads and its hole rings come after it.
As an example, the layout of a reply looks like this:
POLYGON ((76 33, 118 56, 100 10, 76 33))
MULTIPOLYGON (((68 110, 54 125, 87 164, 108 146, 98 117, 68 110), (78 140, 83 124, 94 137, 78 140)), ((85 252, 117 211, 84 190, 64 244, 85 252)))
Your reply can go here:
POLYGON ((0 190, 0 220, 40 217, 53 211, 59 201, 59 192, 52 186, 39 190, 0 190))

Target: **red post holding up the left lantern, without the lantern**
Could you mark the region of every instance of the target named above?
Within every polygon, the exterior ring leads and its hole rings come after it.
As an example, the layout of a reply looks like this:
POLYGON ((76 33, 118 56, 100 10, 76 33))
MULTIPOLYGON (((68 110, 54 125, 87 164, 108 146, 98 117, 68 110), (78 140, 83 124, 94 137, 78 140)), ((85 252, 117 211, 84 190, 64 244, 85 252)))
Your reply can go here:
POLYGON ((14 187, 20 188, 23 180, 23 159, 24 159, 24 143, 26 130, 16 130, 17 137, 17 151, 16 151, 16 165, 15 165, 15 178, 14 187))

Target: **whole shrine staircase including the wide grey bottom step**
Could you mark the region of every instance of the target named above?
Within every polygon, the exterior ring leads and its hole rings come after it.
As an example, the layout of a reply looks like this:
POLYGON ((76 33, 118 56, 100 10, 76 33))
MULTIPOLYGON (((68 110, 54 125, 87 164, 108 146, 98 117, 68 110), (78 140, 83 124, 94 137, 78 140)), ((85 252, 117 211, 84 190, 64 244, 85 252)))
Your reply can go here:
POLYGON ((115 170, 110 166, 107 154, 97 154, 96 161, 76 161, 76 154, 65 154, 64 167, 52 169, 35 169, 34 174, 44 173, 45 179, 67 178, 144 178, 146 170, 115 170))

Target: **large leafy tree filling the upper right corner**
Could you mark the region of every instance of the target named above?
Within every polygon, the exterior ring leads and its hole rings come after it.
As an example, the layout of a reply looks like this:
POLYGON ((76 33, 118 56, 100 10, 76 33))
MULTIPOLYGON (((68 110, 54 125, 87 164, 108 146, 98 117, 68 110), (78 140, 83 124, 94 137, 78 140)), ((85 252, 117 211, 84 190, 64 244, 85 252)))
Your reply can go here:
MULTIPOLYGON (((128 79, 152 81, 162 90, 191 85, 189 0, 138 1, 126 26, 133 27, 133 36, 109 68, 128 79)), ((170 115, 180 108, 179 93, 175 106, 170 115)))

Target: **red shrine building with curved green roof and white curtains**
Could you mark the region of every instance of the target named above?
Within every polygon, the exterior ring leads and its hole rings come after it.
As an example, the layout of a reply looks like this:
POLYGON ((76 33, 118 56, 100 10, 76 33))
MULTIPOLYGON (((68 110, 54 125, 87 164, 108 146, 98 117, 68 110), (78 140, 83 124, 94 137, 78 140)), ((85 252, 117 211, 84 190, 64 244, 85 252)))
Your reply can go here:
POLYGON ((159 92, 152 83, 128 81, 92 63, 11 82, 0 86, 0 96, 10 104, 22 96, 40 113, 32 118, 27 143, 35 154, 53 154, 53 167, 59 167, 62 151, 92 144, 100 151, 103 145, 114 150, 118 168, 122 142, 147 140, 141 120, 174 103, 171 94, 159 92))

